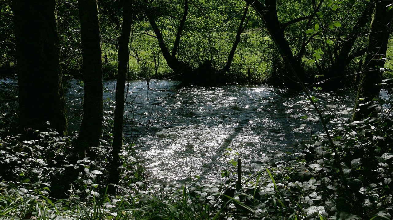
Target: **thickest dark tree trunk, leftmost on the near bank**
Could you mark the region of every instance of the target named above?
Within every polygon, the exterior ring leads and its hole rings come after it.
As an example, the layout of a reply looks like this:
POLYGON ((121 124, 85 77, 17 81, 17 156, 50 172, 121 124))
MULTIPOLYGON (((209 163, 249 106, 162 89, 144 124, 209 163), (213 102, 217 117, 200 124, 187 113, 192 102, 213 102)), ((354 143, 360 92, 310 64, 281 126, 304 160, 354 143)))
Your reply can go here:
POLYGON ((55 5, 55 0, 13 1, 21 131, 66 133, 55 5))

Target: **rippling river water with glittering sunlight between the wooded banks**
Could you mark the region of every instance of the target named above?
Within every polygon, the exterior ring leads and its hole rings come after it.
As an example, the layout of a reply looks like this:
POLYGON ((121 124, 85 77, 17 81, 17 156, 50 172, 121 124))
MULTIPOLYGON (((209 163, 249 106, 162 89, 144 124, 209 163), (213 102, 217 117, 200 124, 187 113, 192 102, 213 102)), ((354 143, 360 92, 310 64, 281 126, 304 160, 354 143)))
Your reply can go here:
MULTIPOLYGON (((70 130, 78 129, 83 86, 68 82, 66 93, 70 130)), ((113 111, 116 82, 104 82, 106 111, 113 111), (112 100, 112 101, 111 101, 112 100)), ((264 156, 286 151, 295 141, 310 135, 304 95, 266 85, 246 87, 183 87, 176 81, 134 81, 126 89, 125 139, 153 178, 187 180, 198 175, 217 180, 229 159, 258 163, 264 156), (295 130, 294 130, 295 129, 295 130), (226 149, 231 149, 228 151, 226 149), (231 152, 224 156, 224 152, 231 152), (239 155, 236 155, 236 153, 239 155)), ((314 91, 324 114, 341 112, 349 118, 353 91, 314 91), (329 105, 326 107, 326 105, 329 105), (349 112, 346 114, 346 112, 349 112)), ((311 111, 311 115, 316 115, 311 111)), ((314 126, 314 125, 313 125, 314 126)), ((312 128, 316 131, 316 127, 312 128)))

